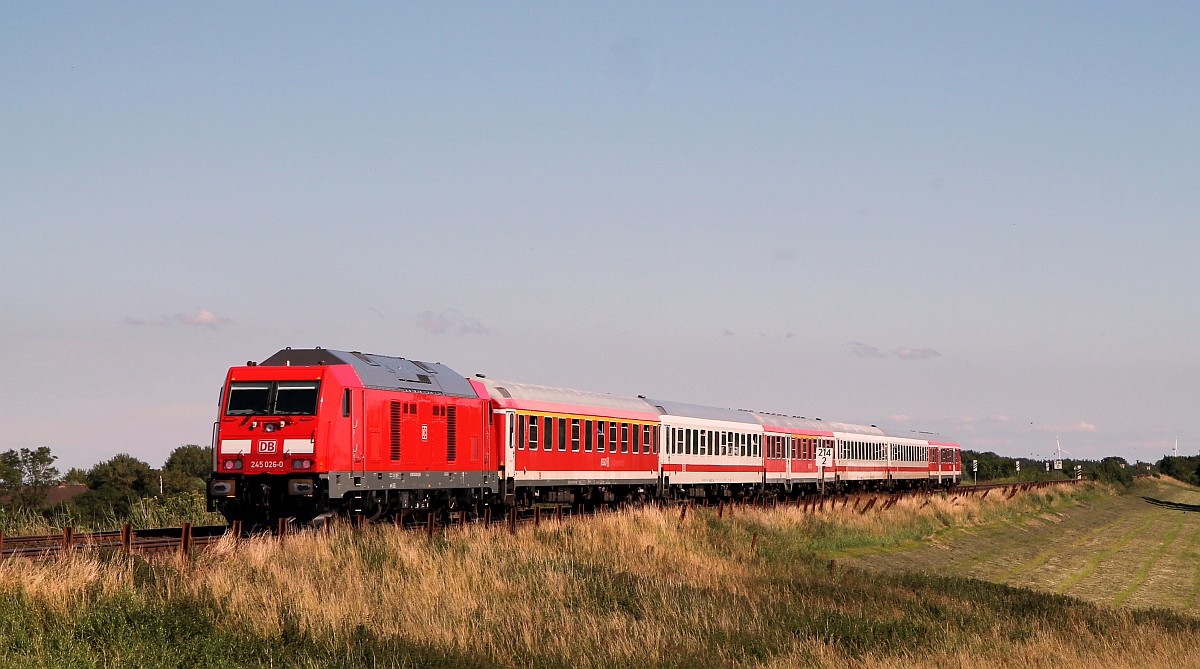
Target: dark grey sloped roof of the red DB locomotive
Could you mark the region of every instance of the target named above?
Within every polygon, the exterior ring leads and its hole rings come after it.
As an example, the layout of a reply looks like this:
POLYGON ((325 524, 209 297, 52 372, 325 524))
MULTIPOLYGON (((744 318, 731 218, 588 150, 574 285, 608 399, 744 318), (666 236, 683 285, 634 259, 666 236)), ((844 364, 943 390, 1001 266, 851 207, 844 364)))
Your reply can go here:
POLYGON ((470 381, 440 362, 334 349, 283 349, 262 366, 349 364, 368 388, 479 397, 470 381))

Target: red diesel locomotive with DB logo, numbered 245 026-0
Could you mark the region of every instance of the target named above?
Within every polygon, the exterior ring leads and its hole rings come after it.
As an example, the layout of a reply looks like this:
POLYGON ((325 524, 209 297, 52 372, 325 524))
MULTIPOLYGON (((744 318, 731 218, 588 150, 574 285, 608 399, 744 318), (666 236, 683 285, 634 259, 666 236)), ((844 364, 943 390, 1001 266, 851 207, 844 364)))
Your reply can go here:
POLYGON ((286 349, 229 370, 209 507, 228 519, 368 517, 498 489, 487 402, 440 363, 286 349))

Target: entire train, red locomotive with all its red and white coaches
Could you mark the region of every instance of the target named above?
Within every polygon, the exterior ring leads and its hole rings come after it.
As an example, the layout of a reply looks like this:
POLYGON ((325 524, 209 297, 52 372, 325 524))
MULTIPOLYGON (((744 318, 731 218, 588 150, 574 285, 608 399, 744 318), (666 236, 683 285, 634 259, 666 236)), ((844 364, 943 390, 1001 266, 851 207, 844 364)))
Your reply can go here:
POLYGON ((229 369, 209 508, 335 513, 952 486, 959 446, 875 427, 464 378, 442 363, 284 349, 229 369))

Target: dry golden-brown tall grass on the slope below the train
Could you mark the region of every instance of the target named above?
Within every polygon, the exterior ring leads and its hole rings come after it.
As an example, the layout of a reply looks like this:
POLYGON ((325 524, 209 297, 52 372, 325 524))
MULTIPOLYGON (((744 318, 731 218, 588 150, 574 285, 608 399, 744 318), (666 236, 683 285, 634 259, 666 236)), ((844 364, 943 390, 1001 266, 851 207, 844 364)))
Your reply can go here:
POLYGON ((724 518, 695 510, 682 522, 678 511, 644 508, 433 540, 342 525, 282 543, 224 540, 192 560, 10 561, 0 591, 59 611, 114 591, 204 601, 215 625, 256 634, 299 628, 346 639, 366 629, 516 667, 1200 664, 1195 627, 1168 629, 1066 598, 1061 621, 1042 615, 1040 599, 1025 613, 1022 596, 992 613, 938 581, 926 589, 827 566, 830 554, 870 542, 1052 514, 1094 494, 935 495, 865 513, 865 499, 812 512, 738 507, 724 518))

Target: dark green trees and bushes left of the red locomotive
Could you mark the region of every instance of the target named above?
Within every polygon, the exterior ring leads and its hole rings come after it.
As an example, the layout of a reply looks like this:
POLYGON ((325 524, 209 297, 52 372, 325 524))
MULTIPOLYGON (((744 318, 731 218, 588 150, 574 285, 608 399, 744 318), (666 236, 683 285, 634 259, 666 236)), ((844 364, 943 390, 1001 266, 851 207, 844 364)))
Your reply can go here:
POLYGON ((80 517, 122 517, 139 499, 204 495, 212 466, 212 448, 185 444, 155 469, 133 456, 120 453, 91 469, 71 468, 60 475, 58 456, 49 446, 8 450, 0 453, 0 508, 44 510, 55 486, 82 483, 86 492, 62 502, 80 517))

